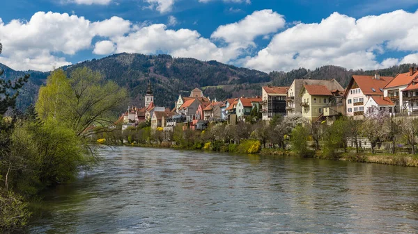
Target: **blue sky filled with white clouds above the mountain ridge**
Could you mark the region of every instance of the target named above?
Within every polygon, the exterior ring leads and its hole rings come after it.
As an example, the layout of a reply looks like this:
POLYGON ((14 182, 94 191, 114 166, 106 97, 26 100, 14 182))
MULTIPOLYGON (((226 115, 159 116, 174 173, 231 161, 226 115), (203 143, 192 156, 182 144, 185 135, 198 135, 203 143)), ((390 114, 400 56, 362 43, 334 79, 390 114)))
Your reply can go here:
POLYGON ((2 0, 0 62, 49 71, 113 53, 258 69, 418 63, 417 0, 2 0))

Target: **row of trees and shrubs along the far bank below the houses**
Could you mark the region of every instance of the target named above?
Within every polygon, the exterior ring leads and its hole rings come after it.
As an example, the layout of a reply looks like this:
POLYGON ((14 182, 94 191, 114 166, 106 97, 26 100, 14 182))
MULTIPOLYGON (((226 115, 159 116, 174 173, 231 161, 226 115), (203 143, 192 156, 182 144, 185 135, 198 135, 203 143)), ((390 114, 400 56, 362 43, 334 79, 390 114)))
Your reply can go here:
POLYGON ((128 144, 139 147, 201 149, 232 153, 260 153, 374 162, 418 167, 416 141, 418 119, 391 117, 389 112, 370 108, 364 119, 339 117, 332 124, 310 123, 302 115, 274 116, 270 122, 252 112, 237 125, 211 123, 205 131, 192 131, 178 124, 173 131, 157 128, 149 122, 135 128, 95 135, 102 144, 128 144), (369 149, 361 147, 366 141, 369 149), (349 147, 348 142, 353 142, 349 147), (378 148, 378 149, 376 149, 378 148))

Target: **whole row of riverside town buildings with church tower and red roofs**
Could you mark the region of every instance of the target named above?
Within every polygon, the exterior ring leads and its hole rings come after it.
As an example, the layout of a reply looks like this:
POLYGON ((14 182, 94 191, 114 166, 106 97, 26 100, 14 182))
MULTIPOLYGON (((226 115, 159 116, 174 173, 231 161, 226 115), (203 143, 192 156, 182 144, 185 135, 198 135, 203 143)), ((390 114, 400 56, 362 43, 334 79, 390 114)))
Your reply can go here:
POLYGON ((392 116, 410 116, 418 113, 418 68, 390 76, 352 76, 348 87, 332 79, 295 79, 289 87, 263 86, 261 97, 236 97, 223 101, 204 97, 195 88, 189 97, 181 94, 172 110, 155 106, 153 87, 148 83, 144 107, 130 106, 118 123, 122 130, 149 121, 151 128, 173 131, 176 124, 184 128, 204 130, 210 122, 235 125, 247 121, 251 112, 260 112, 261 119, 270 121, 274 115, 300 113, 309 122, 326 121, 332 124, 340 116, 362 119, 373 110, 387 110, 392 116))

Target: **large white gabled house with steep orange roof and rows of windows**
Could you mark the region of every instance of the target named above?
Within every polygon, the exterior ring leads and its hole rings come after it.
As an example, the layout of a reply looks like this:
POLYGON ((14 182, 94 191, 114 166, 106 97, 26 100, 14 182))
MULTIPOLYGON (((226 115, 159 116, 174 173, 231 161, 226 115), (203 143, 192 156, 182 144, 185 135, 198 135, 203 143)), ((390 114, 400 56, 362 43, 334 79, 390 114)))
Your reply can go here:
MULTIPOLYGON (((383 96, 383 88, 394 78, 391 76, 353 76, 348 84, 344 99, 346 103, 346 115, 361 119, 364 116, 364 109, 371 97, 383 96)), ((392 108, 389 110, 393 112, 392 108)))

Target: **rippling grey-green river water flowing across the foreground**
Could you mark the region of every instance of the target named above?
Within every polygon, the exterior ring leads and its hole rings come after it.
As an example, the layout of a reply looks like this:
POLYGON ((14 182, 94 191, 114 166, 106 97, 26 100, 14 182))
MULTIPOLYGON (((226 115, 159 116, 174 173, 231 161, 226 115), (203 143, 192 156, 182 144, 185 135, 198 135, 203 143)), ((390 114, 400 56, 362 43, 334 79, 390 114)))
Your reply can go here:
POLYGON ((418 168, 118 147, 28 233, 418 233, 418 168))

